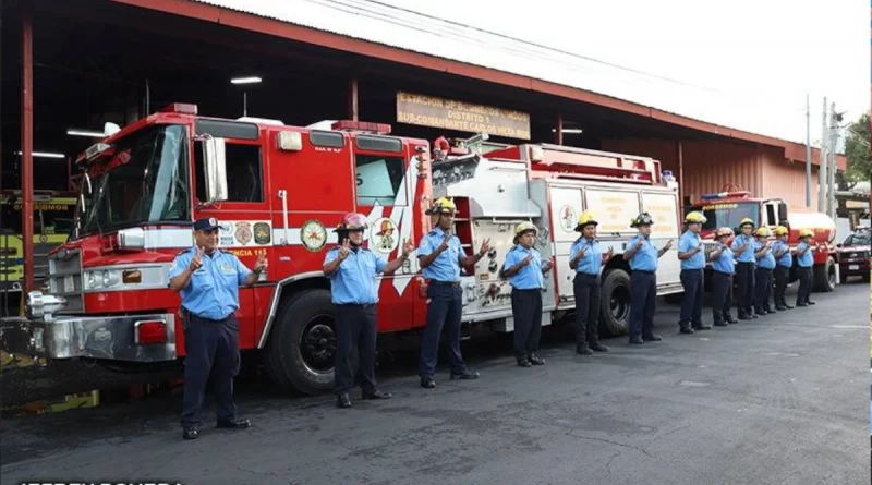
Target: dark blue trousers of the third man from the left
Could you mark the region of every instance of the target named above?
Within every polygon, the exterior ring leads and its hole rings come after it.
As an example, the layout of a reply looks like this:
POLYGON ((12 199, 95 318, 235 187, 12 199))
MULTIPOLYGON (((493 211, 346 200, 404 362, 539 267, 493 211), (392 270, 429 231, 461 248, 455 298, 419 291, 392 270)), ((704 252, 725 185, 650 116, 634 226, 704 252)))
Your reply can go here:
POLYGON ((463 310, 463 289, 460 284, 431 281, 427 286, 427 326, 421 342, 421 377, 433 377, 439 353, 443 328, 448 334, 448 365, 452 374, 467 369, 460 354, 460 314, 463 310))

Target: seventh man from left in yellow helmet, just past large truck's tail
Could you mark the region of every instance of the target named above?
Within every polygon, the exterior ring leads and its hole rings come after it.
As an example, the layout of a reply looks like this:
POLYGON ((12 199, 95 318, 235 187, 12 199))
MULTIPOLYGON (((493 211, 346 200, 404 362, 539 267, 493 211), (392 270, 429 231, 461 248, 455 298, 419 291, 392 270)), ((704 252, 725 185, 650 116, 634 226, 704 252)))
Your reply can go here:
POLYGON ((710 330, 712 327, 702 323, 703 271, 705 253, 700 238, 705 216, 699 211, 685 216, 688 230, 678 240, 678 258, 681 260, 681 286, 685 298, 681 301, 681 316, 678 320, 681 334, 693 334, 693 330, 710 330))

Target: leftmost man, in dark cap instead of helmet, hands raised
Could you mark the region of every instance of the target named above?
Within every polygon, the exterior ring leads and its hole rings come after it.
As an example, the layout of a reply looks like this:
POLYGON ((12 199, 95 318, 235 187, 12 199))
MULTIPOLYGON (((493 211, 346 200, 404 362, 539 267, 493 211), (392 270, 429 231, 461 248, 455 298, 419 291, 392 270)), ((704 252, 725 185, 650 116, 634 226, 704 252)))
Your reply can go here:
POLYGON ((267 267, 261 254, 249 270, 232 253, 219 250, 218 221, 194 222, 195 245, 175 256, 170 267, 170 289, 182 296, 184 330, 184 399, 182 437, 196 439, 197 414, 203 407, 211 373, 218 401, 217 427, 240 429, 251 426, 237 416, 233 377, 239 373, 239 287, 252 287, 267 267))

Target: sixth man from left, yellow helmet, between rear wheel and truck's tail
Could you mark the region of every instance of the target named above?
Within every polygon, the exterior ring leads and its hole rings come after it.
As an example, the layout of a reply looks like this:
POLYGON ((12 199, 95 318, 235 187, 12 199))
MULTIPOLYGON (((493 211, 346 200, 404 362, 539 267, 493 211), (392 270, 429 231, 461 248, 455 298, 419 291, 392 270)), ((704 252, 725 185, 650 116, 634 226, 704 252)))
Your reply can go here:
POLYGON ((663 337, 654 335, 654 312, 657 300, 658 259, 673 246, 669 240, 662 250, 651 241, 651 226, 654 220, 647 213, 640 214, 630 222, 639 233, 627 242, 623 259, 630 263, 630 343, 643 344, 659 341, 663 337))

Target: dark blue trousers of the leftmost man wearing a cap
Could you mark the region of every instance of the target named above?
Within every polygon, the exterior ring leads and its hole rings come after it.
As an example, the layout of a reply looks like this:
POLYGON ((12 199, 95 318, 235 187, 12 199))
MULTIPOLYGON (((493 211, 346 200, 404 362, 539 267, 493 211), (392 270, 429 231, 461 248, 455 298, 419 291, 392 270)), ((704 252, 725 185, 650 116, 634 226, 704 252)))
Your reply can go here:
POLYGON ((222 320, 189 315, 184 331, 184 398, 182 426, 199 425, 197 414, 206 398, 211 374, 218 404, 218 421, 235 420, 233 377, 239 374, 239 322, 231 315, 222 320))

